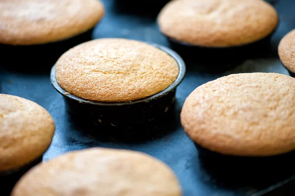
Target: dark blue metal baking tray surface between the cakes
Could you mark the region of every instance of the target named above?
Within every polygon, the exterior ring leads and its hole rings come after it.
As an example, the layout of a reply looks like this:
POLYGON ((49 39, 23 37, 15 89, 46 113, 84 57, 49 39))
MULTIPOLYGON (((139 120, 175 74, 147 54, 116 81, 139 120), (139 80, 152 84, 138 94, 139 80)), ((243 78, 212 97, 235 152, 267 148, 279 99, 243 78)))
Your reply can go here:
MULTIPOLYGON (((140 7, 137 3, 133 6, 134 4, 125 3, 124 0, 103 1, 107 14, 101 24, 95 28, 94 38, 124 37, 169 46, 166 38, 155 27, 155 18, 160 7, 153 5, 147 9, 146 5, 140 7)), ((235 68, 223 73, 210 74, 204 72, 204 69, 214 71, 216 67, 227 66, 227 61, 213 62, 211 60, 214 56, 208 55, 207 62, 200 63, 198 54, 186 58, 187 72, 183 82, 177 88, 175 112, 168 120, 157 125, 150 125, 150 134, 116 137, 108 134, 108 130, 92 130, 86 125, 78 125, 65 111, 62 96, 50 84, 50 68, 53 64, 48 65, 47 59, 40 61, 42 69, 22 72, 17 71, 19 66, 6 64, 6 68, 2 68, 0 72, 0 93, 18 95, 35 101, 53 116, 56 134, 43 160, 52 159, 71 150, 94 146, 139 150, 164 161, 175 171, 184 196, 266 195, 276 187, 272 186, 273 184, 281 183, 281 186, 286 184, 282 183, 284 179, 289 178, 288 181, 292 179, 295 172, 288 161, 285 162, 285 166, 272 165, 267 167, 266 172, 252 172, 249 176, 245 172, 245 168, 249 167, 247 165, 236 164, 231 168, 224 168, 218 159, 199 157, 194 143, 180 126, 179 113, 190 92, 197 86, 218 77, 244 72, 277 72, 288 75, 288 71, 281 65, 278 58, 277 46, 283 35, 295 28, 295 1, 272 0, 272 3, 279 13, 280 25, 271 39, 271 45, 249 58, 234 62, 235 68)), ((50 58, 50 51, 44 52, 47 52, 50 58)), ((29 63, 23 62, 22 66, 29 67, 29 63)), ((142 130, 137 131, 141 133, 142 130)), ((255 164, 250 167, 255 170, 255 164)), ((286 192, 276 195, 294 196, 294 186, 285 186, 283 190, 286 192)))

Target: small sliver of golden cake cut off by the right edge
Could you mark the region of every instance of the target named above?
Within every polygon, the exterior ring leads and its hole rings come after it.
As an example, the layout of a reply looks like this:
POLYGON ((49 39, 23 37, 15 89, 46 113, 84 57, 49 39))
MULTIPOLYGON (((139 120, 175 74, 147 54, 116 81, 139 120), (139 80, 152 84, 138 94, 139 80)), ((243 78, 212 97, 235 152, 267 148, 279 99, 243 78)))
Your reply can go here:
POLYGON ((289 71, 290 76, 295 77, 295 30, 283 37, 278 47, 282 64, 289 71))

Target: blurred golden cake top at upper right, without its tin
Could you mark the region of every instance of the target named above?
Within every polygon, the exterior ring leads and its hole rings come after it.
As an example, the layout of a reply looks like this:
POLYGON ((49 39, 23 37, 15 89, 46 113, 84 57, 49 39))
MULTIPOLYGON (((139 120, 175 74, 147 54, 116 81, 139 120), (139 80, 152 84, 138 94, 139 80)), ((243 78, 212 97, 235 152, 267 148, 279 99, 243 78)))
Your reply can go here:
POLYGON ((172 0, 160 12, 162 33, 204 47, 240 46, 275 30, 278 15, 264 0, 172 0))

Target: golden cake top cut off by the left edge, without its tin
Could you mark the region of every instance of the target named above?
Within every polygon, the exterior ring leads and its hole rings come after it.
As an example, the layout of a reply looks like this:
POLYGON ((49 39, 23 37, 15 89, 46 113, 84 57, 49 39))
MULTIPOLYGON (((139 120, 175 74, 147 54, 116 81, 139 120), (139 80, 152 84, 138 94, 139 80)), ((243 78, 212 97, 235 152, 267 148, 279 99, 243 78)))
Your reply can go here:
POLYGON ((44 108, 0 94, 0 173, 22 168, 42 156, 54 131, 54 121, 44 108))

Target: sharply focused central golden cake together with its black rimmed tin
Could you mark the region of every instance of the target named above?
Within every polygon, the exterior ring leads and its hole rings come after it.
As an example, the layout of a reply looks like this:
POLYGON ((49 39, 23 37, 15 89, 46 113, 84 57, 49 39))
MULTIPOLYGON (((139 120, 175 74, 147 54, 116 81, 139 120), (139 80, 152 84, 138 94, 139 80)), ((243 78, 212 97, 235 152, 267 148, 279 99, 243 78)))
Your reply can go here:
POLYGON ((106 38, 63 54, 51 80, 73 116, 128 127, 168 112, 184 72, 182 59, 168 48, 106 38))

